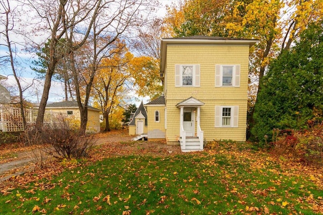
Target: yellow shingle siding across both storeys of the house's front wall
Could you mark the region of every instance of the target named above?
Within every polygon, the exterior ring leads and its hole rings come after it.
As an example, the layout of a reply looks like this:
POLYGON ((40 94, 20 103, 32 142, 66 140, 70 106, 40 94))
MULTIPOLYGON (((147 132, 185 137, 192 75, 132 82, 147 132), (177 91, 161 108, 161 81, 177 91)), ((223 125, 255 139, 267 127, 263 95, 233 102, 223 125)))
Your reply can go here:
MULTIPOLYGON (((176 104, 189 97, 205 105, 200 109, 200 125, 207 141, 212 139, 246 139, 249 45, 168 46, 166 138, 169 143, 180 135, 180 109, 176 104), (199 64, 200 87, 175 87, 175 64, 199 64), (240 87, 215 87, 216 64, 240 64, 240 87), (237 128, 216 128, 215 106, 239 106, 237 128)), ((196 119, 195 119, 196 120, 196 119)), ((196 121, 195 121, 196 126, 196 121)), ((196 128, 195 128, 196 133, 196 128)))

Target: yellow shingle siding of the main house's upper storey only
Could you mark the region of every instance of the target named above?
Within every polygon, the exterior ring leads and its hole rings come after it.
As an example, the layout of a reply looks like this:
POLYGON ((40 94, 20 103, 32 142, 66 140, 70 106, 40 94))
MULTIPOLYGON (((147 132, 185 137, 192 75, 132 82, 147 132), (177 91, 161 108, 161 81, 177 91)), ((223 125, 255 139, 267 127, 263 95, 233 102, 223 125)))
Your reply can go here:
POLYGON ((249 46, 169 46, 167 99, 247 99, 249 46), (233 55, 234 53, 234 55, 233 55), (175 87, 175 64, 200 64, 200 87, 175 87), (216 64, 240 64, 240 87, 215 87, 216 64))

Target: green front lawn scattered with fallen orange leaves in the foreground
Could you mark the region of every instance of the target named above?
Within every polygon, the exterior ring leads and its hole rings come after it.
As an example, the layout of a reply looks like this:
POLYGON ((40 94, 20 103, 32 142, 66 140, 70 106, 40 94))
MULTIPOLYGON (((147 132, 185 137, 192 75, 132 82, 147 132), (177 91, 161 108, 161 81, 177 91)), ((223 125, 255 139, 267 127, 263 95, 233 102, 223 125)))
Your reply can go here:
POLYGON ((312 175, 260 152, 209 147, 175 156, 111 157, 0 197, 0 214, 315 214, 312 175))

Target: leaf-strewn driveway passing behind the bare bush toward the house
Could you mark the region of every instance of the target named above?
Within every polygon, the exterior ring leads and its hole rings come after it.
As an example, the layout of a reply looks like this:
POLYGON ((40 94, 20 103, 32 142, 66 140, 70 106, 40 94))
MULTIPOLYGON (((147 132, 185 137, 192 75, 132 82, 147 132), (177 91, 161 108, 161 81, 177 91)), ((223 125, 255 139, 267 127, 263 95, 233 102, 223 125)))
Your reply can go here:
MULTIPOLYGON (((133 136, 128 135, 127 129, 98 133, 95 138, 95 145, 100 145, 100 149, 95 149, 93 153, 99 154, 100 157, 132 154, 165 156, 181 153, 179 146, 168 146, 166 142, 131 141, 133 136)), ((39 156, 36 156, 36 153, 37 150, 24 147, 23 144, 0 146, 0 182, 32 171, 39 156)))

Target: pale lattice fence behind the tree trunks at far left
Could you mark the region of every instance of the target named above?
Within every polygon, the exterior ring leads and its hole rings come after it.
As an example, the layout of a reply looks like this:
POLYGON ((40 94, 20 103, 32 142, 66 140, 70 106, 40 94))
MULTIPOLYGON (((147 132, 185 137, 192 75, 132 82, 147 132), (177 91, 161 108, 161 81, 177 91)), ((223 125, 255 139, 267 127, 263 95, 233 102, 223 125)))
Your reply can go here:
MULTIPOLYGON (((38 110, 25 109, 25 117, 28 127, 33 127, 36 123, 38 110)), ((65 123, 62 113, 45 111, 44 115, 44 128, 64 128, 65 123)), ((19 108, 0 106, 0 130, 3 132, 8 131, 23 131, 22 117, 19 108)))

